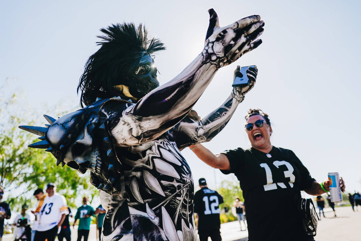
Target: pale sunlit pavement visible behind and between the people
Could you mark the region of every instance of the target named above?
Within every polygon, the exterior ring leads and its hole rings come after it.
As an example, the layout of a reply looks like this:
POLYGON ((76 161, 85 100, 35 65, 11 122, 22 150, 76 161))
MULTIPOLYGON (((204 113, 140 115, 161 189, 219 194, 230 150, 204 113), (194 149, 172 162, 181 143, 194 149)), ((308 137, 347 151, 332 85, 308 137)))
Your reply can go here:
MULTIPOLYGON (((318 222, 316 241, 361 241, 361 207, 352 211, 351 207, 336 207, 336 217, 331 208, 325 208, 324 218, 318 222)), ((244 229, 244 227, 242 227, 244 229)), ((3 241, 12 241, 12 234, 5 234, 3 241)), ((71 241, 77 240, 77 226, 71 227, 71 241)), ((239 222, 221 224, 222 241, 246 241, 248 232, 241 231, 239 222)), ((56 239, 57 240, 57 239, 56 239)), ((96 225, 92 224, 88 241, 96 241, 96 225)), ((209 241, 210 238, 208 239, 209 241)))

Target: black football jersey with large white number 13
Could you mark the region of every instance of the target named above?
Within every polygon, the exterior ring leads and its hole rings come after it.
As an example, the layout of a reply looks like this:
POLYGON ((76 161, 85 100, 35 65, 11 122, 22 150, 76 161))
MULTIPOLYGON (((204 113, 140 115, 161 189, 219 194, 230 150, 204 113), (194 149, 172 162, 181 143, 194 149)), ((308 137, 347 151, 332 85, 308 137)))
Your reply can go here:
POLYGON ((249 241, 307 240, 297 203, 314 179, 297 156, 277 147, 268 154, 254 148, 223 154, 231 171, 221 171, 234 173, 243 190, 249 241))

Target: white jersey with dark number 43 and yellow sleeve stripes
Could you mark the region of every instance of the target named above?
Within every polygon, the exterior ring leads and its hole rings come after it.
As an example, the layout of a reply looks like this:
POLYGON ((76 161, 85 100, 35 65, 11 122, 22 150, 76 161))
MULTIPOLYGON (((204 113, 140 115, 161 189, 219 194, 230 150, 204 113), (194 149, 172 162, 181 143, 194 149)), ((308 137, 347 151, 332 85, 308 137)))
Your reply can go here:
POLYGON ((39 211, 40 220, 37 231, 47 231, 54 228, 59 223, 61 215, 68 213, 68 205, 63 195, 58 193, 51 197, 47 195, 39 211))

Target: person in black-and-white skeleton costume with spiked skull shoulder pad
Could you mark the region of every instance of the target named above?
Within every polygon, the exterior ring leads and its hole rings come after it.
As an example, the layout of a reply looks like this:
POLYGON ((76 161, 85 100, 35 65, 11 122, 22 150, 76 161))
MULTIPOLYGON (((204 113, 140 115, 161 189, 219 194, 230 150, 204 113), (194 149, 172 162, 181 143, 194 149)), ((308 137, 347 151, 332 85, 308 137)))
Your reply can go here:
MULTIPOLYGON (((253 87, 231 95, 204 119, 191 111, 217 70, 261 44, 260 16, 219 27, 210 9, 203 51, 177 77, 159 86, 152 53, 160 40, 134 23, 101 29, 100 49, 80 79, 81 105, 60 119, 44 115, 46 128, 20 126, 40 135, 29 147, 43 148, 85 173, 100 189, 106 209, 103 240, 197 240, 193 220, 193 178, 180 150, 212 139, 253 87), (112 97, 117 96, 117 97, 112 97)), ((239 71, 239 66, 236 69, 239 71)))

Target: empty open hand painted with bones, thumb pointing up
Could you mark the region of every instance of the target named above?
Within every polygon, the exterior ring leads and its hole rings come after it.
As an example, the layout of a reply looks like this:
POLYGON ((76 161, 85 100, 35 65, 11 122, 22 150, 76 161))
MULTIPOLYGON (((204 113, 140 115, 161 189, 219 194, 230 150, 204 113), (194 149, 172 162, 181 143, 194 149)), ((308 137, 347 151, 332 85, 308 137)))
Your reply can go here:
POLYGON ((262 43, 261 39, 257 39, 263 33, 265 25, 260 16, 249 16, 226 27, 219 27, 217 13, 213 9, 209 9, 208 12, 209 27, 202 51, 205 62, 221 68, 262 43))

